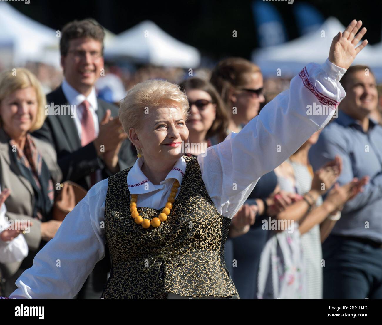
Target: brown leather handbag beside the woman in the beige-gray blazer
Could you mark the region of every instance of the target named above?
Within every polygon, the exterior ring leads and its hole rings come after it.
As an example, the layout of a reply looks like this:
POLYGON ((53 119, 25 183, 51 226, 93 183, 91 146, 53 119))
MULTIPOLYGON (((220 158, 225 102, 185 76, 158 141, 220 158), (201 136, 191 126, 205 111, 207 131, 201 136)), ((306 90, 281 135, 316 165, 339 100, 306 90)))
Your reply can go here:
POLYGON ((55 198, 53 219, 62 221, 74 209, 76 204, 86 196, 86 189, 72 181, 65 181, 55 198))

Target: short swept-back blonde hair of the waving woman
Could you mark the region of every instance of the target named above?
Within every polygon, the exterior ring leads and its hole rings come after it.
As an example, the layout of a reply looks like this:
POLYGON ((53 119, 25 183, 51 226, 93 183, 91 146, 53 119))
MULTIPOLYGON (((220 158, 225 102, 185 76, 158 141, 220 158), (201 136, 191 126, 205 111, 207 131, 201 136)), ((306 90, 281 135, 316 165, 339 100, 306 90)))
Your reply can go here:
POLYGON ((176 106, 183 110, 185 118, 188 113, 188 99, 185 92, 176 84, 163 80, 147 80, 131 88, 120 102, 118 115, 123 129, 140 129, 145 108, 176 106))

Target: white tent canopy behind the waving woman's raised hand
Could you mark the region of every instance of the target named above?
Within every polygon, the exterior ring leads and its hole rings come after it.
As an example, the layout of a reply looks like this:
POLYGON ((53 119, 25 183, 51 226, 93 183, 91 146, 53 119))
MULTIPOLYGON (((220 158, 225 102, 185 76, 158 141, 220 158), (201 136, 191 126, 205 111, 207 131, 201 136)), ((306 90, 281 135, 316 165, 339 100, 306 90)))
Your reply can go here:
MULTIPOLYGON (((337 18, 330 17, 315 32, 284 44, 255 50, 252 61, 260 66, 265 76, 276 76, 277 69, 281 69, 282 76, 295 76, 309 62, 323 63, 329 55, 333 37, 344 29, 337 18)), ((369 65, 379 70, 382 60, 377 60, 376 50, 367 45, 357 55, 354 64, 369 65)))

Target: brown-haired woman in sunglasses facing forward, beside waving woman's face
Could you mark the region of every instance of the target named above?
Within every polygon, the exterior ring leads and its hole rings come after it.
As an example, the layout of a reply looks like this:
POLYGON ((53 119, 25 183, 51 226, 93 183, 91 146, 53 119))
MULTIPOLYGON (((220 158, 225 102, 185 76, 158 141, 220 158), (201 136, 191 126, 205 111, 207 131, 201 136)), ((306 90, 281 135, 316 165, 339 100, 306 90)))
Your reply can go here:
POLYGON ((189 147, 186 154, 197 156, 224 141, 227 136, 228 114, 222 99, 212 84, 193 77, 181 82, 189 104, 186 126, 189 147))

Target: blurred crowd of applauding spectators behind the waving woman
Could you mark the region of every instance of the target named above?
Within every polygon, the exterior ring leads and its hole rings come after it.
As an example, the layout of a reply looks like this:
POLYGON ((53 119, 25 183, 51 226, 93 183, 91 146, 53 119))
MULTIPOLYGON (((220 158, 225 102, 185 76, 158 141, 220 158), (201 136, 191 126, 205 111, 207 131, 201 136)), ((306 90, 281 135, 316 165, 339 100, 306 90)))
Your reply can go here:
MULTIPOLYGON (((60 227, 61 184, 87 191, 134 164, 136 148, 116 116, 135 84, 163 79, 186 92, 189 142, 206 145, 192 147, 188 155, 195 157, 240 132, 290 85, 282 77, 263 80, 243 58, 192 74, 104 65, 102 42, 99 25, 71 22, 60 44, 63 72, 39 63, 16 68, 16 75, 0 72, 0 296, 16 289, 60 227), (77 116, 46 116, 50 103, 76 105, 77 116), (110 146, 99 152, 104 143, 110 146), (8 220, 17 221, 13 228, 8 220)), ((382 232, 375 230, 382 208, 382 86, 366 68, 348 69, 338 118, 262 176, 231 221, 225 266, 241 298, 382 298, 382 232)), ((110 267, 106 254, 76 298, 99 298, 110 267)))

